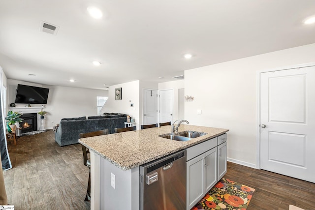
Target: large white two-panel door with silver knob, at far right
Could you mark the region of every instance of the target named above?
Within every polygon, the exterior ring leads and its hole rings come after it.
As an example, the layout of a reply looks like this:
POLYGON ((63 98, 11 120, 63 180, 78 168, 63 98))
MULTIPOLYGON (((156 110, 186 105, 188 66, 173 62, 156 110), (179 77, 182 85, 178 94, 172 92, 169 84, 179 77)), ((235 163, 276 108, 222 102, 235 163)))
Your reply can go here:
POLYGON ((315 67, 261 73, 260 167, 315 182, 315 67))

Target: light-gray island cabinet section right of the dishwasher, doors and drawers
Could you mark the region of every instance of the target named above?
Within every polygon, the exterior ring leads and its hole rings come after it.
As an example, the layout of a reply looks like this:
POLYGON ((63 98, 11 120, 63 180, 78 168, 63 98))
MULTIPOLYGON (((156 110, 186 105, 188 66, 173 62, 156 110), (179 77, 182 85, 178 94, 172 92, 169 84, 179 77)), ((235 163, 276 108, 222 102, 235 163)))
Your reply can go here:
POLYGON ((226 173, 227 135, 197 144, 187 151, 187 210, 190 210, 226 173))

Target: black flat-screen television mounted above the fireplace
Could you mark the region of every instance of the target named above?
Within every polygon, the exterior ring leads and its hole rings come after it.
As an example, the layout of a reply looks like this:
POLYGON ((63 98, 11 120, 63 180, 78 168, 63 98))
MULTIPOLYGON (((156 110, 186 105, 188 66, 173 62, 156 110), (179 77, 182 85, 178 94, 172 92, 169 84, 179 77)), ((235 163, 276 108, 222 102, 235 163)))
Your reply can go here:
POLYGON ((17 104, 47 104, 48 88, 33 87, 18 84, 15 103, 17 104))

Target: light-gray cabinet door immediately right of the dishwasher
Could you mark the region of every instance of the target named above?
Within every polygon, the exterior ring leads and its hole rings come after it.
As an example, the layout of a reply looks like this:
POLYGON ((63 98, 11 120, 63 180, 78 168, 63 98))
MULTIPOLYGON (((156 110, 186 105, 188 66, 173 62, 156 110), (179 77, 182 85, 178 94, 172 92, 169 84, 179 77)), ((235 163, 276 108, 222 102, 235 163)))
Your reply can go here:
POLYGON ((187 164, 187 210, 190 210, 204 196, 204 154, 201 154, 187 164))

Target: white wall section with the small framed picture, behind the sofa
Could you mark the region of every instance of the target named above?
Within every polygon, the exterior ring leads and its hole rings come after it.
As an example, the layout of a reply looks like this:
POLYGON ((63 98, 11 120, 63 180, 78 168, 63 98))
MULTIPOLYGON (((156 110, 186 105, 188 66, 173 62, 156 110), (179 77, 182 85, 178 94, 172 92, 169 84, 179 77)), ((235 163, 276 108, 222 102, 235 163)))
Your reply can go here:
POLYGON ((139 80, 110 86, 108 89, 108 99, 100 112, 127 114, 135 120, 137 129, 139 129, 139 88, 139 80), (116 88, 122 88, 122 100, 115 100, 116 88), (133 103, 133 107, 130 106, 131 103, 133 103))

